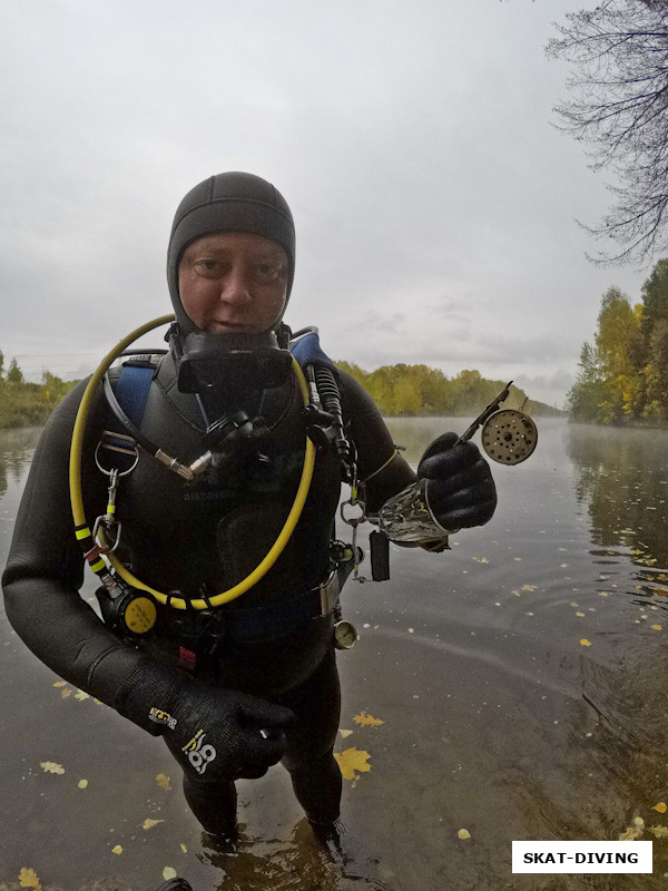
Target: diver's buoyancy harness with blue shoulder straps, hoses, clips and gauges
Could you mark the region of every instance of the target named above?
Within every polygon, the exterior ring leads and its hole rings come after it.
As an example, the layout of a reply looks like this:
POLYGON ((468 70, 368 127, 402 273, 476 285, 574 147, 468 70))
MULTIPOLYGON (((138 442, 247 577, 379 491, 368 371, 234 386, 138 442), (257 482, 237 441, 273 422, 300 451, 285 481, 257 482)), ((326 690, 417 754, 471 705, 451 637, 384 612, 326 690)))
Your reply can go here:
MULTIPOLYGON (((169 321, 169 317, 156 320, 155 323, 149 323, 148 326, 144 326, 139 331, 145 333, 146 330, 156 327, 165 321, 169 321)), ((104 371, 102 365, 100 365, 89 384, 89 388, 96 389, 99 381, 104 380, 107 401, 118 421, 116 424, 118 429, 106 430, 96 449, 96 463, 109 477, 109 488, 107 512, 98 517, 92 531, 86 523, 82 513, 80 467, 77 468, 77 449, 80 450, 81 448, 80 441, 82 437, 79 421, 81 420, 81 423, 85 424, 89 404, 89 400, 87 401, 88 390, 79 410, 79 414, 82 414, 82 418, 77 418, 72 435, 70 484, 73 481, 79 482, 79 490, 72 489, 72 512, 76 533, 84 548, 87 561, 102 582, 97 595, 105 621, 118 633, 131 637, 145 635, 156 624, 158 617, 156 601, 158 601, 170 607, 170 614, 173 609, 186 610, 190 614, 193 610, 200 610, 200 616, 197 618, 205 619, 206 616, 207 621, 198 624, 202 626, 210 624, 208 617, 216 611, 216 607, 236 599, 253 587, 268 571, 283 551, 301 516, 308 493, 314 467, 315 443, 318 448, 334 449, 342 468, 342 478, 351 486, 351 497, 341 506, 341 516, 344 522, 352 527, 352 544, 345 545, 336 540, 331 542, 331 570, 327 578, 316 588, 306 593, 301 591, 294 597, 287 594, 282 598, 279 605, 255 607, 253 609, 235 607, 232 613, 225 610, 225 627, 226 633, 234 634, 237 639, 254 639, 262 638, 269 630, 273 634, 285 633, 299 620, 306 618, 333 614, 335 620, 335 645, 344 648, 351 647, 356 639, 356 633, 350 623, 341 620, 340 593, 352 571, 354 571, 358 580, 363 580, 358 576, 358 564, 363 555, 356 545, 356 532, 357 526, 365 519, 364 502, 358 497, 354 446, 345 435, 335 366, 320 347, 317 329, 306 329, 297 332, 289 344, 293 372, 304 403, 306 451, 297 495, 285 526, 266 557, 239 584, 219 595, 212 597, 200 596, 190 599, 164 594, 144 584, 131 575, 115 554, 121 536, 121 523, 116 516, 117 492, 120 479, 130 473, 138 461, 138 447, 141 447, 143 450, 150 453, 156 460, 185 480, 195 479, 195 477, 205 472, 212 462, 212 452, 207 449, 191 464, 184 464, 171 456, 166 454, 141 432, 141 419, 157 370, 155 359, 146 355, 135 355, 129 359, 124 363, 116 390, 112 390, 107 371, 116 358, 126 354, 125 350, 128 342, 131 343, 136 336, 139 336, 139 334, 134 332, 132 335, 118 345, 117 351, 110 354, 111 358, 107 356, 104 360, 104 371), (109 359, 110 361, 107 361, 109 359), (107 467, 107 464, 110 466, 107 467)), ((226 435, 243 435, 244 424, 247 425, 247 418, 229 419, 229 433, 226 432, 226 435)), ((204 442, 206 443, 206 437, 204 442)), ((80 463, 80 451, 78 460, 80 463)), ((377 540, 377 538, 384 538, 381 532, 372 532, 371 535, 376 539, 374 541, 372 538, 373 578, 374 580, 382 580, 389 577, 386 568, 387 541, 386 538, 384 541, 377 540)), ((219 614, 219 610, 217 613, 219 614)), ((179 614, 173 615, 178 616, 179 614)), ((183 611, 180 615, 184 616, 183 611)), ((185 624, 176 621, 176 625, 185 624)))

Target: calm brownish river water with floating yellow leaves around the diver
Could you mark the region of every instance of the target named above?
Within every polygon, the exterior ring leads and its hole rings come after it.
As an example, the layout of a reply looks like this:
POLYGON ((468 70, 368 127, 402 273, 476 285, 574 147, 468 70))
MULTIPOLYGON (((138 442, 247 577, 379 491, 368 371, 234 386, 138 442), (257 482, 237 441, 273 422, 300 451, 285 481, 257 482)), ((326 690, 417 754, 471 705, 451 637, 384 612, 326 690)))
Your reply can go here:
MULTIPOLYGON (((415 462, 466 423, 391 425, 415 462)), ((393 891, 668 884, 668 431, 538 423, 525 463, 492 467, 487 527, 393 547, 390 581, 344 594, 343 817, 393 891), (513 839, 625 834, 652 875, 511 873, 513 839)), ((0 431, 0 565, 38 433, 0 431)), ((238 849, 210 850, 161 741, 59 686, 3 614, 0 644, 0 888, 374 887, 323 854, 279 766, 238 784, 238 849)))

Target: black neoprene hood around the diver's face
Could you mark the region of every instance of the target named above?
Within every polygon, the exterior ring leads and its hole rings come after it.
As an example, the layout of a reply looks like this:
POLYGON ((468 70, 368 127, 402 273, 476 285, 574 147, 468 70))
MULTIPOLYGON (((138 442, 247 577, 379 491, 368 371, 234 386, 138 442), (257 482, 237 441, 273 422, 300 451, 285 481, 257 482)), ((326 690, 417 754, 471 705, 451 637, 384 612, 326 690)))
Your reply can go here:
POLYGON ((254 174, 217 174, 188 192, 176 210, 169 236, 167 282, 184 334, 198 329, 180 301, 178 264, 191 242, 216 232, 262 235, 284 248, 287 254, 287 305, 295 275, 295 224, 287 202, 271 183, 254 174))

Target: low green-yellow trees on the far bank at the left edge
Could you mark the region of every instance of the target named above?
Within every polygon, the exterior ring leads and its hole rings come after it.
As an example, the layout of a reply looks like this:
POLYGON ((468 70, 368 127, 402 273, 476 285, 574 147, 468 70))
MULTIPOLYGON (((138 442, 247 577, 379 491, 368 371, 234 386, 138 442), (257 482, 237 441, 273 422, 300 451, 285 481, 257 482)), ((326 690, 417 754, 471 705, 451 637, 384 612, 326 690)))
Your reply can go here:
POLYGON ((4 371, 4 355, 0 351, 0 429, 43 424, 76 383, 61 381, 49 371, 43 372, 41 383, 29 383, 16 359, 4 371))

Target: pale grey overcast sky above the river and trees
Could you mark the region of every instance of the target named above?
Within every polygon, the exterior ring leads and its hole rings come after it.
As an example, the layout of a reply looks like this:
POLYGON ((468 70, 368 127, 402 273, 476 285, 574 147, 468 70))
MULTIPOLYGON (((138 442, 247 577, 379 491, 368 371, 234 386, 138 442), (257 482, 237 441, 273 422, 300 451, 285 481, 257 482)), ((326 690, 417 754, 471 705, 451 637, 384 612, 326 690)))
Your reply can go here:
POLYGON ((649 272, 592 265, 576 223, 610 196, 553 126, 568 68, 544 46, 588 6, 6 0, 6 368, 81 376, 168 312, 178 202, 249 170, 295 217, 293 329, 367 370, 478 369, 561 405, 601 295, 637 302, 649 272))

